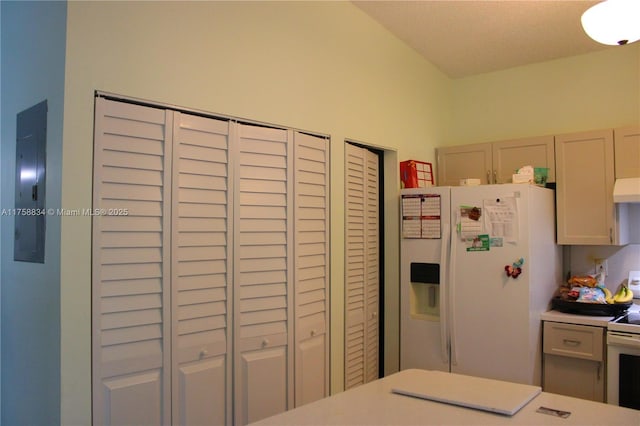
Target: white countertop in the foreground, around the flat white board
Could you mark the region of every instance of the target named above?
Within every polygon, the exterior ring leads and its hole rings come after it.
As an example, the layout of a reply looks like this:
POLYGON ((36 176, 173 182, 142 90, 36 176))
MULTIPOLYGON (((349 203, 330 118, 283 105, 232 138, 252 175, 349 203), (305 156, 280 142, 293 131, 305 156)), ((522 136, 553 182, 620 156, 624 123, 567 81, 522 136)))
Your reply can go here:
POLYGON ((391 392, 424 370, 404 370, 254 423, 258 425, 640 425, 640 411, 542 392, 505 416, 391 392), (567 418, 536 412, 569 411, 567 418))

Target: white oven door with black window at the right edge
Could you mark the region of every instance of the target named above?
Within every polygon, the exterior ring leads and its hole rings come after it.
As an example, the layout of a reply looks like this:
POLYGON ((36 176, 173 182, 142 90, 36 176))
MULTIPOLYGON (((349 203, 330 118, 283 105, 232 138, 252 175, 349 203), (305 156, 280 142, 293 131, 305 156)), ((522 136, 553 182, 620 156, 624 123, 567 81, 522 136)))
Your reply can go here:
POLYGON ((607 402, 640 409, 640 334, 607 332, 607 402))

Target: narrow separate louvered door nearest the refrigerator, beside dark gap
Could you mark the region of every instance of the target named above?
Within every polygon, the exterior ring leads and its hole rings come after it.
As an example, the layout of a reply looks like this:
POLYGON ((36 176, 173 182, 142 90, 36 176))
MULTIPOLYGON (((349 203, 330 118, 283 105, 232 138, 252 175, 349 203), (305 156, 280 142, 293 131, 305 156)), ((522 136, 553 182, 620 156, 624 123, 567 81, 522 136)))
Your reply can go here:
POLYGON ((378 378, 379 222, 375 154, 346 145, 345 389, 378 378))

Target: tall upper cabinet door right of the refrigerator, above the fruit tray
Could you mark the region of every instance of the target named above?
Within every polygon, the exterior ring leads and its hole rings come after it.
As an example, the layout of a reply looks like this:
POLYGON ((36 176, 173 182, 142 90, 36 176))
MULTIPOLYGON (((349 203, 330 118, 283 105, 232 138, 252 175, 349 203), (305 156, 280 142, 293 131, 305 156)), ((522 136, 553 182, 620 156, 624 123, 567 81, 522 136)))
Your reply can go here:
POLYGON ((613 131, 556 137, 558 244, 616 243, 613 131))

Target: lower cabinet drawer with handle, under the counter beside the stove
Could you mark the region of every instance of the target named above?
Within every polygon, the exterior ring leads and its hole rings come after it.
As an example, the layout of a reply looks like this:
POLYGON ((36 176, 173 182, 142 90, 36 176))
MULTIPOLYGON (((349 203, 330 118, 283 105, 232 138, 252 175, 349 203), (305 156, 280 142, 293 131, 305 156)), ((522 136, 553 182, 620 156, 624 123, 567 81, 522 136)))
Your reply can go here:
POLYGON ((571 358, 604 360, 604 328, 544 322, 544 353, 571 358))

